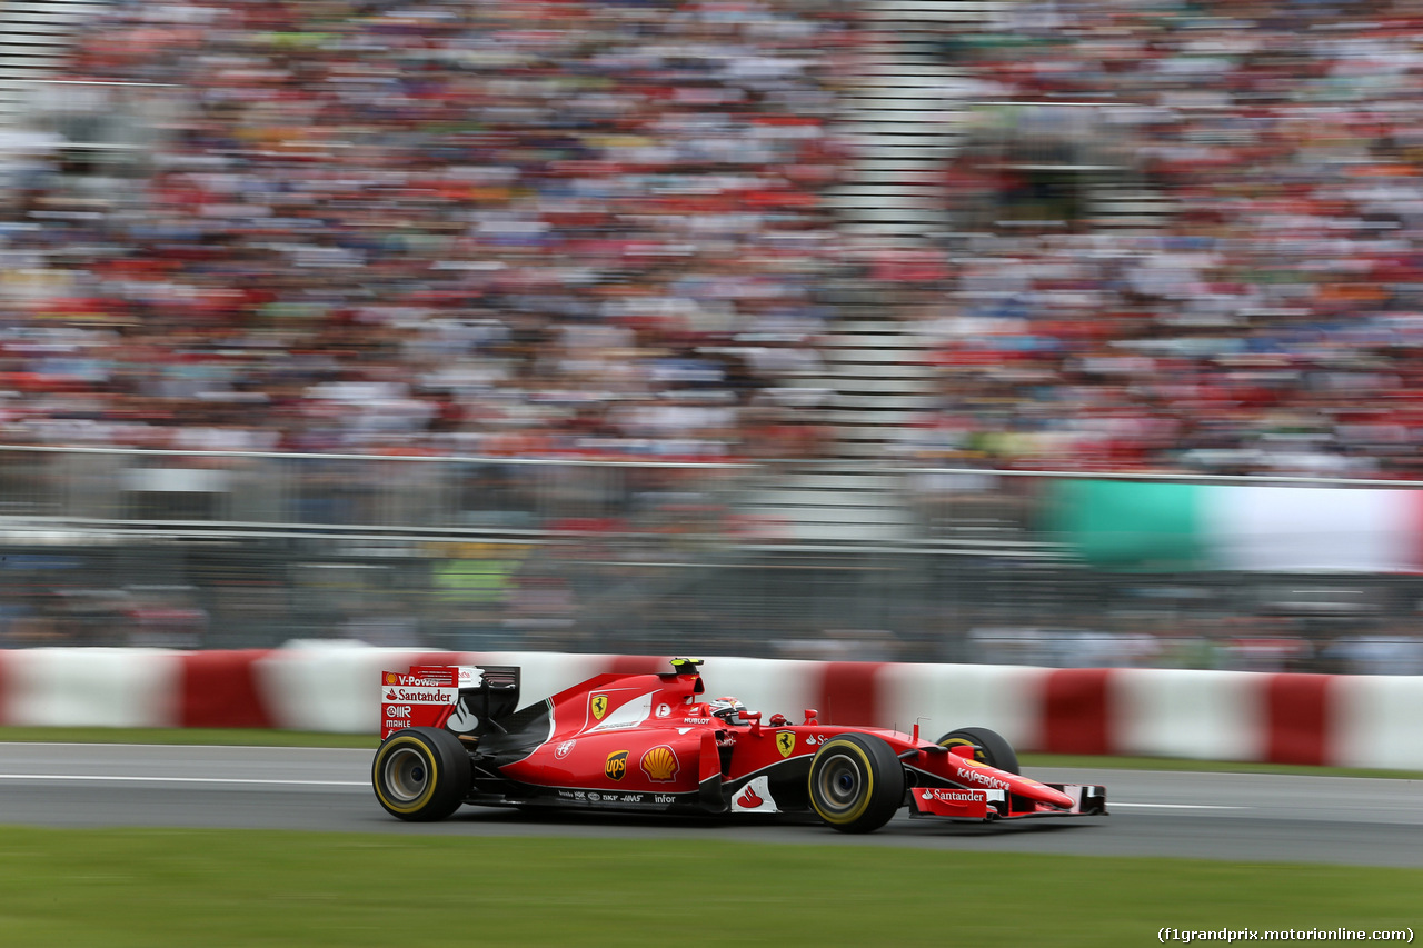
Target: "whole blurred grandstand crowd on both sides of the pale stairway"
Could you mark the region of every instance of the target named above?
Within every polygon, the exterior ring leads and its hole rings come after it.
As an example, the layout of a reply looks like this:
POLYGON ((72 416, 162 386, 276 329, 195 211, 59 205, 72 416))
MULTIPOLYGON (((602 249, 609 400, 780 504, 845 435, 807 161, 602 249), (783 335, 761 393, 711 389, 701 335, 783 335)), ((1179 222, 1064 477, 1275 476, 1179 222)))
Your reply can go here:
MULTIPOLYGON (((1407 4, 1002 7, 943 24, 945 61, 982 100, 1130 108, 1173 212, 966 233, 956 202, 1042 184, 945 167, 945 265, 878 313, 936 340, 892 455, 1413 477, 1407 4)), ((824 195, 865 37, 798 0, 110 4, 67 77, 182 108, 128 186, 51 157, 9 194, 3 436, 832 451, 784 393, 857 259, 824 195)))

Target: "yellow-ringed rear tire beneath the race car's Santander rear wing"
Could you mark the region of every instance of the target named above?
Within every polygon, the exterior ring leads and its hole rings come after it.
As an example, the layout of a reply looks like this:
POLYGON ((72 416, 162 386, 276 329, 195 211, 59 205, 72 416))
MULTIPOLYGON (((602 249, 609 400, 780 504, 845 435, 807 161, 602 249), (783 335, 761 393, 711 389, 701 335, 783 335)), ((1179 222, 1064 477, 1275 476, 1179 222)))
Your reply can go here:
POLYGON ((441 727, 403 727, 370 766, 376 799, 401 820, 444 820, 470 793, 474 769, 460 739, 441 727))

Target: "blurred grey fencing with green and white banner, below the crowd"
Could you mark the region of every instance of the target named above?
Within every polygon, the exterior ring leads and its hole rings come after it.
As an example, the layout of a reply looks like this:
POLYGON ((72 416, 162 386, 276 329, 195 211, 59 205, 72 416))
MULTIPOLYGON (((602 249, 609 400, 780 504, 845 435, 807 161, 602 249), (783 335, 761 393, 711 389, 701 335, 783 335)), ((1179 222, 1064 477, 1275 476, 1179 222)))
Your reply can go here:
POLYGON ((1387 527, 1412 485, 885 467, 840 494, 905 514, 889 539, 766 515, 830 467, 6 447, 0 646, 1423 672, 1423 581, 1387 527), (1168 522, 1211 497, 1248 501, 1248 530, 1168 522), (1299 568, 1309 537, 1345 559, 1299 568))

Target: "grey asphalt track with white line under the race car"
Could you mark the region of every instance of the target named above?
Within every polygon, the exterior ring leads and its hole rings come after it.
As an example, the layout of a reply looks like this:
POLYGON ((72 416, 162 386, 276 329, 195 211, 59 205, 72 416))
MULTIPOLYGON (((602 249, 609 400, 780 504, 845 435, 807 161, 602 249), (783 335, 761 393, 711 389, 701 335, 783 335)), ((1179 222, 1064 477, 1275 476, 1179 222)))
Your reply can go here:
POLYGON ((0 743, 0 824, 232 827, 440 836, 723 838, 996 853, 1177 855, 1423 867, 1423 780, 1027 769, 1107 786, 1110 817, 953 824, 896 817, 869 836, 805 818, 693 820, 464 807, 388 817, 367 750, 0 743))

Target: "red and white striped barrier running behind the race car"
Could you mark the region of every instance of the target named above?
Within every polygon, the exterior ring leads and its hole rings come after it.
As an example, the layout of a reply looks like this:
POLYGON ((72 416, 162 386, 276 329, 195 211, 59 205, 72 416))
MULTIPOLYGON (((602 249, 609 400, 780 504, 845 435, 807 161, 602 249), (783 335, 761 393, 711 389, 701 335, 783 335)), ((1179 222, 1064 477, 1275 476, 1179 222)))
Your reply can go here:
MULTIPOLYGON (((451 653, 293 642, 280 649, 0 651, 0 725, 379 730, 377 672, 518 665, 536 700, 665 656, 451 653)), ((767 716, 877 725, 926 737, 970 725, 1020 750, 1423 770, 1423 676, 1044 669, 707 659, 710 696, 767 716)))

